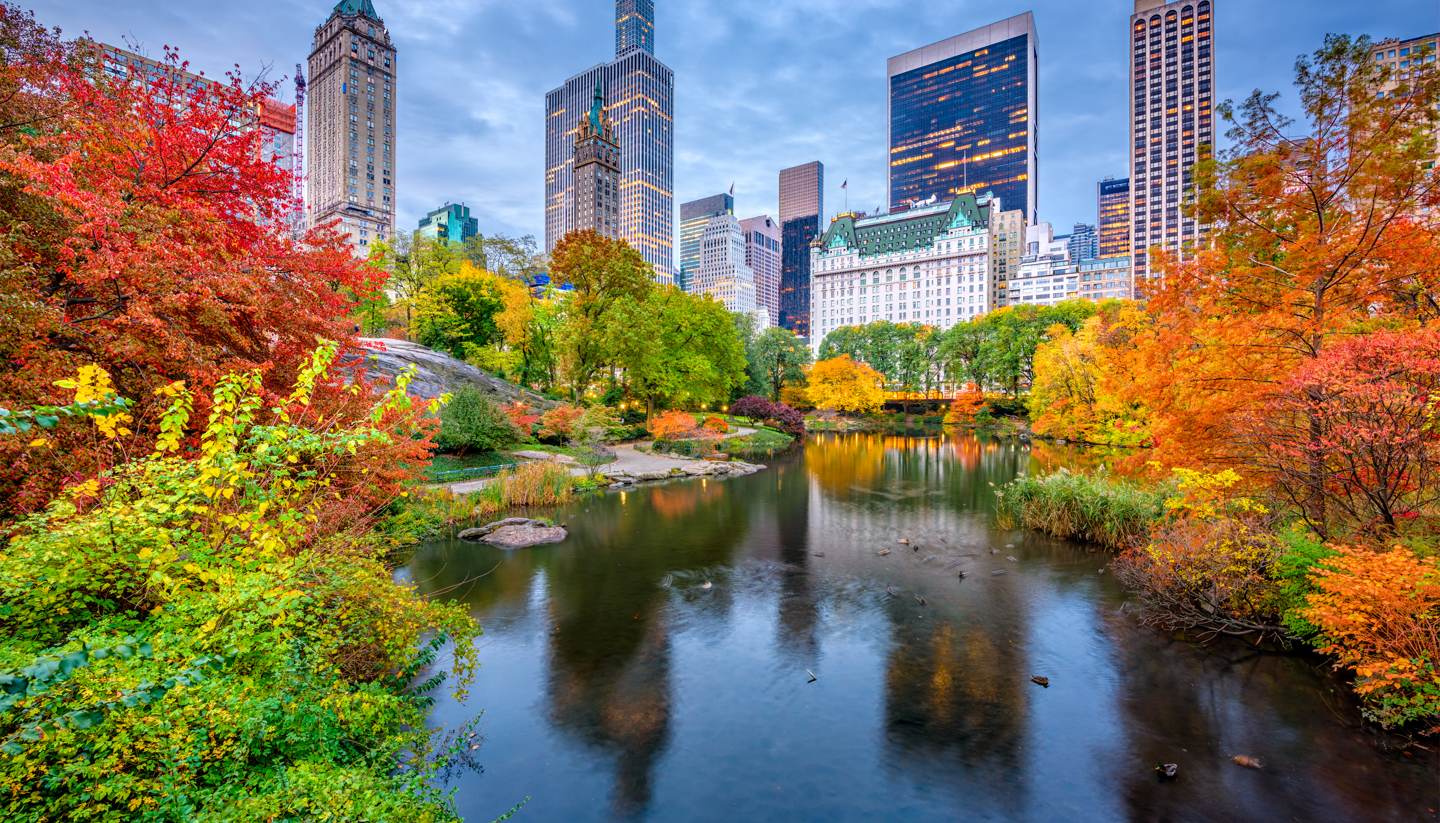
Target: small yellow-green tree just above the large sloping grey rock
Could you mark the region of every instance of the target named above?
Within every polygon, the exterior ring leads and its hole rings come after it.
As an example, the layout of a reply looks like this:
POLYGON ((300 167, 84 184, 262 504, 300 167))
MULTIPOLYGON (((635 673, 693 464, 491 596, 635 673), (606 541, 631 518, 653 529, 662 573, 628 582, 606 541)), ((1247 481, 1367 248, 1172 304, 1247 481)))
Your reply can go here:
POLYGON ((472 348, 501 341, 495 317, 504 308, 504 282, 465 263, 442 275, 415 299, 410 332, 420 345, 464 360, 472 348))

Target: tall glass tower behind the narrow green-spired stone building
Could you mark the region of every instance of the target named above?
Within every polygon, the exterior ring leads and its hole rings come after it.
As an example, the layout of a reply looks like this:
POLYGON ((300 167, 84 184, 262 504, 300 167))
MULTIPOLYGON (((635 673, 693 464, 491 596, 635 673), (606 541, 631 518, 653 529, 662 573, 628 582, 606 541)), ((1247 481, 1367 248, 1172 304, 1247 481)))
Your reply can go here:
POLYGON ((553 250, 575 229, 576 129, 599 83, 621 147, 619 237, 668 283, 675 269, 674 73, 654 55, 654 0, 618 0, 615 23, 615 59, 546 95, 544 245, 553 250))

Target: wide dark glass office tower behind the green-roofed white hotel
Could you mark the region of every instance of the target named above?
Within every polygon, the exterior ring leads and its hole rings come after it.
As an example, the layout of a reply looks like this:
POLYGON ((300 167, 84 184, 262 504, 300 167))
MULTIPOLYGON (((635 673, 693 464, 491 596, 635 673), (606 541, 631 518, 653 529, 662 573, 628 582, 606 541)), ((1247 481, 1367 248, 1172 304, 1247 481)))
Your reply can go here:
POLYGON ((1037 209, 1038 43, 1030 12, 890 58, 890 210, 996 194, 1037 209))

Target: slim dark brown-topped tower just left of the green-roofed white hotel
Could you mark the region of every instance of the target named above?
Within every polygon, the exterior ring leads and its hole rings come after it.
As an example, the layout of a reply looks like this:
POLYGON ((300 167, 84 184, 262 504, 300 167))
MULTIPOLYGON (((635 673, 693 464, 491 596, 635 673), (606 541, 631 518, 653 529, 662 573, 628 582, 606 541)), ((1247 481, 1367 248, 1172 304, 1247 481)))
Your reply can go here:
POLYGON ((818 160, 780 171, 779 324, 809 338, 811 243, 825 213, 825 165, 818 160))

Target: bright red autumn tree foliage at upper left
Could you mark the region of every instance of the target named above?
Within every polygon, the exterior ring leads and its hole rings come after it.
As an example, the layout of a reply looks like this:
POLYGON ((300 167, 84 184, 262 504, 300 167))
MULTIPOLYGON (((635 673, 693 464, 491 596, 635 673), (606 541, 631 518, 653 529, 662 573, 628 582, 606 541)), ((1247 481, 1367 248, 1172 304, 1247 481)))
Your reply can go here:
MULTIPOLYGON (((291 178, 246 125, 272 85, 115 78, 14 6, 0 17, 7 404, 58 406, 55 381, 96 365, 134 400, 148 443, 164 407, 156 388, 265 367, 266 393, 282 393, 317 338, 347 340, 354 301, 380 276, 331 227, 302 242, 288 230, 291 178)), ((166 62, 183 68, 173 52, 166 62)), ((56 436, 53 449, 0 440, 3 514, 42 506, 105 453, 85 432, 56 436)))

